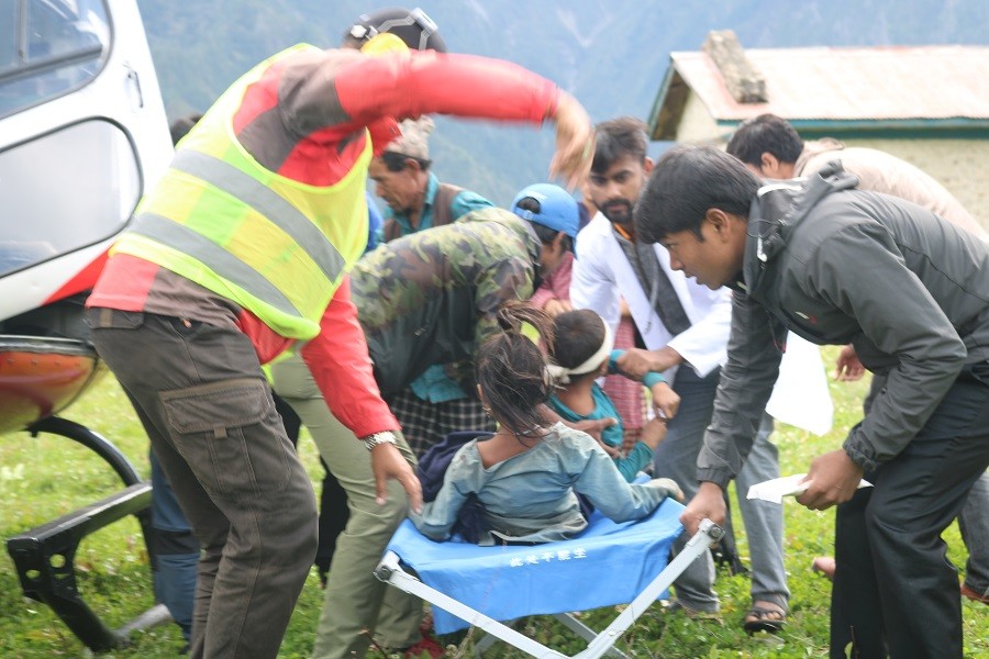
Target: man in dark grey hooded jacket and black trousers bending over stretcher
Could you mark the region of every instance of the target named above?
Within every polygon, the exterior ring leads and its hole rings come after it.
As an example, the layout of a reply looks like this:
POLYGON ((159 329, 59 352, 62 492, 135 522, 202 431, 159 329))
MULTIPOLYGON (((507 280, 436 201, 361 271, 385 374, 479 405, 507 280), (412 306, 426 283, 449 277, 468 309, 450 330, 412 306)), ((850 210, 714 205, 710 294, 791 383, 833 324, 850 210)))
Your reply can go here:
POLYGON ((711 289, 733 289, 732 337, 681 515, 724 516, 723 490, 779 371, 786 330, 852 343, 887 376, 798 502, 838 504, 831 656, 960 658, 957 573, 941 534, 989 466, 989 246, 931 211, 856 190, 840 164, 759 180, 711 147, 660 158, 635 209, 644 241, 711 289), (857 489, 866 478, 875 487, 857 489))

